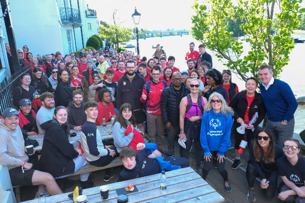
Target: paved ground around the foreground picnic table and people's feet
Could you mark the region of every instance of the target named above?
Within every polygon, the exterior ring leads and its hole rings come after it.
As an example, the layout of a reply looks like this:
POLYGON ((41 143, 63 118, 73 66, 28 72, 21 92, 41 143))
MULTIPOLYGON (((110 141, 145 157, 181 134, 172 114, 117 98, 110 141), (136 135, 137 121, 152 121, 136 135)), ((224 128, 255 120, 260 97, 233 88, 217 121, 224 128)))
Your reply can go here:
MULTIPOLYGON (((166 139, 167 140, 167 139, 166 139)), ((234 140, 232 140, 232 146, 234 144, 234 140)), ((179 145, 176 143, 175 145, 175 156, 179 156, 179 145)), ((229 174, 229 180, 232 187, 232 192, 226 193, 224 191, 224 182, 220 174, 218 173, 217 169, 212 168, 210 173, 207 176, 207 182, 217 191, 219 192, 224 198, 226 203, 247 203, 246 194, 248 189, 248 184, 245 178, 245 169, 246 169, 246 162, 248 160, 248 150, 244 150, 244 154, 242 155, 242 162, 243 165, 241 168, 237 170, 233 170, 231 168, 230 160, 234 160, 234 149, 229 149, 227 153, 227 161, 226 161, 226 170, 229 174)), ((195 161, 194 161, 194 154, 191 153, 190 156, 190 166, 195 169, 195 161)), ((201 167, 203 167, 203 163, 201 163, 201 167)), ((121 172, 120 167, 116 167, 114 169, 116 176, 112 178, 109 182, 104 182, 104 170, 93 172, 89 176, 89 180, 94 182, 94 186, 105 185, 109 183, 113 183, 119 177, 121 172)), ((68 178, 63 178, 57 180, 58 184, 62 188, 63 192, 71 192, 74 190, 76 186, 80 186, 79 176, 72 176, 68 178)), ((256 193, 256 202, 257 203, 280 203, 277 199, 277 194, 271 200, 267 200, 263 197, 261 190, 259 189, 259 181, 255 182, 255 193, 256 193)), ((21 200, 27 201, 34 198, 35 192, 37 191, 37 187, 22 187, 21 188, 21 200)))

